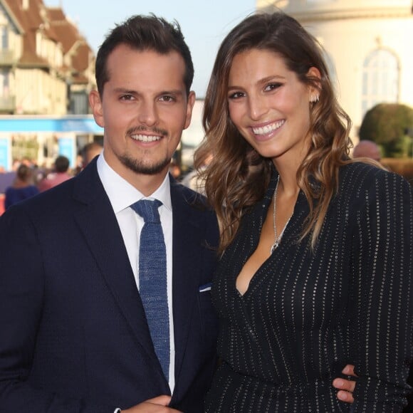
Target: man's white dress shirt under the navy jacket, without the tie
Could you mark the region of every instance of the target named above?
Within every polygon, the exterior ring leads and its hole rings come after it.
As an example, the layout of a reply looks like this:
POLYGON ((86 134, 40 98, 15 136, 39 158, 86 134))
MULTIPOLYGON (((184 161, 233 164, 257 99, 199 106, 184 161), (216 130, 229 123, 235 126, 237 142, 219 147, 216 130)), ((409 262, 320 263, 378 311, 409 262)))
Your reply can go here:
POLYGON ((165 246, 167 249, 167 295, 169 310, 169 387, 171 392, 174 390, 174 320, 172 316, 172 202, 169 186, 169 174, 166 175, 160 187, 150 196, 144 197, 143 194, 133 187, 129 182, 120 177, 106 162, 105 153, 102 152, 98 157, 98 174, 108 194, 110 204, 117 219, 117 223, 122 233, 123 241, 129 257, 130 266, 137 288, 139 289, 139 244, 140 231, 144 224, 143 218, 139 216, 130 205, 140 199, 158 199, 162 202, 160 206, 160 219, 164 232, 165 246))

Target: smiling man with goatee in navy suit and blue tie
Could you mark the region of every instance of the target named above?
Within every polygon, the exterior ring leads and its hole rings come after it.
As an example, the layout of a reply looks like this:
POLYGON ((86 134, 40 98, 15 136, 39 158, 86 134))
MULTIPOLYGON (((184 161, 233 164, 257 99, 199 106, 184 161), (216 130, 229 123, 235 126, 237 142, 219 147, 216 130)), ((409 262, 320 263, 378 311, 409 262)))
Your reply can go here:
POLYGON ((191 120, 192 77, 179 26, 155 16, 117 26, 90 94, 103 155, 1 217, 2 413, 202 412, 215 365, 219 234, 199 194, 167 173, 191 120), (141 291, 141 199, 162 202, 169 362, 141 291))

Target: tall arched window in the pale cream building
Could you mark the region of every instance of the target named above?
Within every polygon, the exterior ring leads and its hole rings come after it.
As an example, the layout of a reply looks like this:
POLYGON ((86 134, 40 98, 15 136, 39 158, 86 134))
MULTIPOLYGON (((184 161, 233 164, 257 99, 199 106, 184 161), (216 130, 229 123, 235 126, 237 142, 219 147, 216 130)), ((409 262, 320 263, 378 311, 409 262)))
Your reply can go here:
POLYGON ((378 103, 399 100, 399 61, 391 51, 378 49, 365 58, 362 70, 362 116, 378 103))

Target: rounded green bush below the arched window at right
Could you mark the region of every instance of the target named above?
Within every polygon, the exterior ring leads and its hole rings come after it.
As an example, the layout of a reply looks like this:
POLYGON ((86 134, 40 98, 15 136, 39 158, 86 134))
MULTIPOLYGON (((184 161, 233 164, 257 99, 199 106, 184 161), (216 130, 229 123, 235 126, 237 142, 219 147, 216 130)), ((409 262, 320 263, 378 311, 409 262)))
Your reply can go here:
POLYGON ((370 109, 360 126, 360 140, 380 145, 385 157, 409 155, 411 139, 407 130, 413 128, 413 108, 399 103, 379 103, 370 109))

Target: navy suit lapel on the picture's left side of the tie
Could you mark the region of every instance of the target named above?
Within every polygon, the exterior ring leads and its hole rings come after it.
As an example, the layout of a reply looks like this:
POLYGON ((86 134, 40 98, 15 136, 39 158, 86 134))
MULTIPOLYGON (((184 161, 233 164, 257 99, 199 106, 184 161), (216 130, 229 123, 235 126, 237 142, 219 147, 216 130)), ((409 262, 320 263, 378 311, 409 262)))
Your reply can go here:
POLYGON ((100 182, 95 161, 82 172, 82 176, 78 177, 74 197, 83 204, 76 213, 75 219, 90 252, 95 256, 100 273, 105 278, 122 315, 135 333, 137 345, 157 365, 157 370, 163 377, 160 363, 152 350, 145 310, 130 268, 122 234, 103 184, 100 182))

